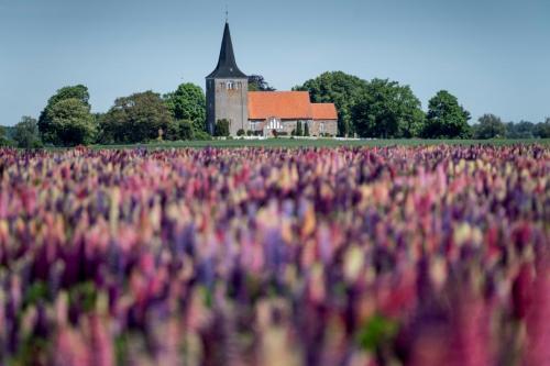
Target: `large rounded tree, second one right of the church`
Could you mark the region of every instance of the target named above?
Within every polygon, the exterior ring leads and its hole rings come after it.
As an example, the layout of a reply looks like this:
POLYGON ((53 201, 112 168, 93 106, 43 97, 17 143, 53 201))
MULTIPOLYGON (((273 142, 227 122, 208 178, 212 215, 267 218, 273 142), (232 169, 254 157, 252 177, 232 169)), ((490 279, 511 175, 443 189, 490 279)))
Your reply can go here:
POLYGON ((355 106, 352 117, 361 137, 413 137, 422 127, 421 104, 408 86, 373 79, 355 106))

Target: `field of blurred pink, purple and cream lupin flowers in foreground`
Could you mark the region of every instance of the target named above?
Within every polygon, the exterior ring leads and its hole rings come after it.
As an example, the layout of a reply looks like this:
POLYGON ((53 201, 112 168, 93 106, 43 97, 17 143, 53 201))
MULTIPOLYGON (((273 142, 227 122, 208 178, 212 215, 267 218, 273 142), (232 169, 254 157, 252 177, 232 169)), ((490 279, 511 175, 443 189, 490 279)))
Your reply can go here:
POLYGON ((0 365, 550 365, 550 146, 0 149, 0 365))

